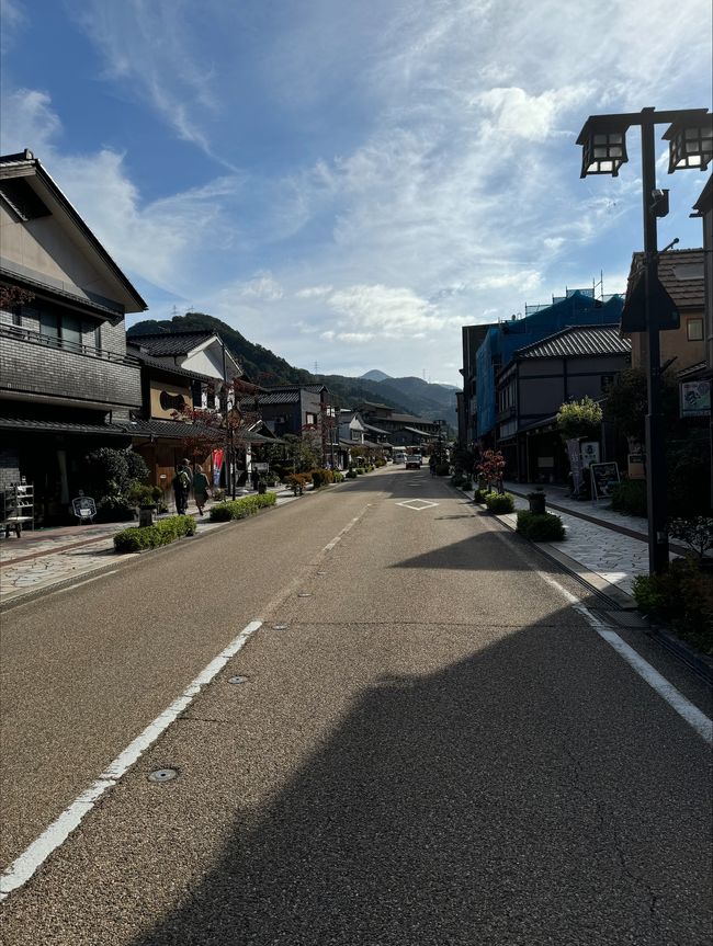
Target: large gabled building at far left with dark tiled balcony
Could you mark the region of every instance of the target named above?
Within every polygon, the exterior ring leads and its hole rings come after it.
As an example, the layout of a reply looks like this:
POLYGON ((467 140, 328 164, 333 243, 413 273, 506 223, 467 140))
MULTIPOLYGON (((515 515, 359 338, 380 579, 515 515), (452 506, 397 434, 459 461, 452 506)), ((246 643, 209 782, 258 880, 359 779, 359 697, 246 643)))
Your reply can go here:
POLYGON ((146 303, 31 151, 0 157, 0 482, 67 518, 83 460, 142 406, 125 317, 146 303))

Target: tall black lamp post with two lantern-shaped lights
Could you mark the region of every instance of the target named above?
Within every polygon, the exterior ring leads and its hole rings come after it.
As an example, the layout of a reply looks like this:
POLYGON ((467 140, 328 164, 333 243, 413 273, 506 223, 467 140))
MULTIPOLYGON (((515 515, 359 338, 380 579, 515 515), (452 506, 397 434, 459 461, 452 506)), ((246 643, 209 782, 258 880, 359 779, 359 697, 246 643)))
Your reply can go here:
MULTIPOLYGON (((670 127, 664 134, 669 145, 669 174, 684 168, 704 171, 713 159, 713 116, 708 109, 656 112, 642 109, 620 115, 590 115, 579 133, 581 174, 618 176, 626 156, 626 130, 635 125, 642 136, 642 184, 644 208, 643 314, 648 340, 646 384, 646 495, 648 500, 648 570, 652 574, 668 568, 668 531, 666 526, 666 452, 661 412, 661 366, 659 331, 661 297, 658 282, 656 220, 668 214, 668 191, 656 187, 655 127, 670 127)), ((672 328, 674 326, 669 326, 672 328)))

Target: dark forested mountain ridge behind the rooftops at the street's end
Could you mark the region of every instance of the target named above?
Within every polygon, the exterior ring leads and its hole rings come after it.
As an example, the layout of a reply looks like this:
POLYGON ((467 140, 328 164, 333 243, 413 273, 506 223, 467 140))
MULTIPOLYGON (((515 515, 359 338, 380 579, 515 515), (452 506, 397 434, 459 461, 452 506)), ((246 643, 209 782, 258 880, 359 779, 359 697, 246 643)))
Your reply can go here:
POLYGON ((455 396, 457 388, 449 385, 430 385, 417 377, 391 378, 374 369, 361 378, 344 375, 313 375, 295 368, 270 349, 249 342, 236 329, 205 312, 186 312, 172 319, 145 319, 132 326, 129 339, 157 332, 212 331, 225 341, 226 349, 241 365, 249 380, 264 387, 276 385, 325 384, 339 407, 355 407, 360 401, 372 401, 394 409, 397 413, 415 414, 427 420, 448 421, 456 425, 455 396), (377 376, 377 377, 376 377, 377 376))

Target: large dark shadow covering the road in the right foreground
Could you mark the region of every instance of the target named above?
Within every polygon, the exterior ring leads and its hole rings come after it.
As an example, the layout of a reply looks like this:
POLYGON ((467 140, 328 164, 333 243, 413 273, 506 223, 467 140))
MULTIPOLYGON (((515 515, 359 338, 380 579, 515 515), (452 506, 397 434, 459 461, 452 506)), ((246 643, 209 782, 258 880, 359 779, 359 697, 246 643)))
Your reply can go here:
POLYGON ((499 634, 365 689, 134 946, 704 943, 695 737, 571 612, 499 634))

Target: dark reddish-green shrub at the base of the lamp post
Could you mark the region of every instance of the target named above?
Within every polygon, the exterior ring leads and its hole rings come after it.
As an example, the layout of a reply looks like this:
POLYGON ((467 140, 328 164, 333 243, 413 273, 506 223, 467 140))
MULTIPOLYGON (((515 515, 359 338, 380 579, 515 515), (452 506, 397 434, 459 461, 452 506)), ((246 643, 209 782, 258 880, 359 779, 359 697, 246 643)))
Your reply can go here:
POLYGON ((693 556, 676 559, 663 574, 638 574, 633 592, 640 611, 669 622, 676 634, 713 656, 713 579, 693 556))

